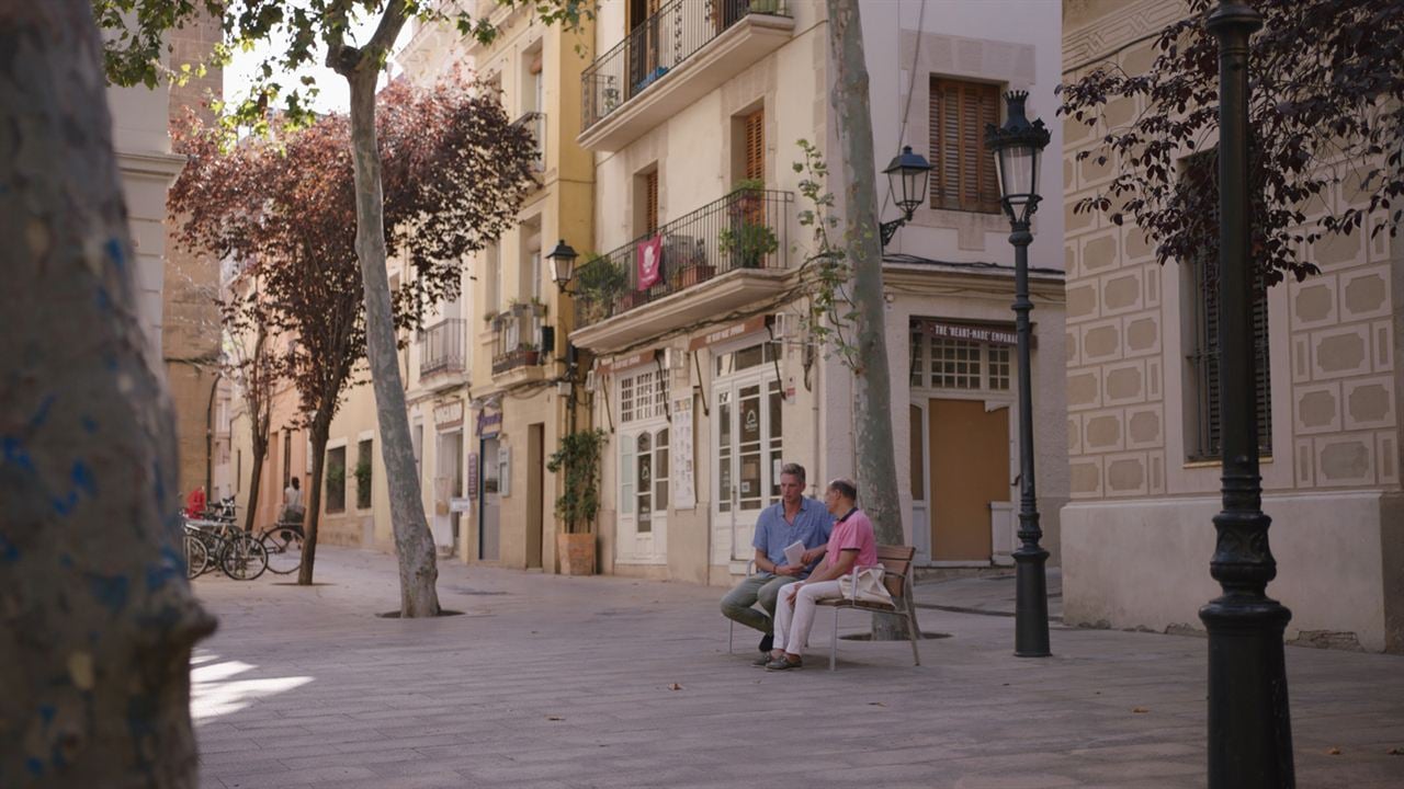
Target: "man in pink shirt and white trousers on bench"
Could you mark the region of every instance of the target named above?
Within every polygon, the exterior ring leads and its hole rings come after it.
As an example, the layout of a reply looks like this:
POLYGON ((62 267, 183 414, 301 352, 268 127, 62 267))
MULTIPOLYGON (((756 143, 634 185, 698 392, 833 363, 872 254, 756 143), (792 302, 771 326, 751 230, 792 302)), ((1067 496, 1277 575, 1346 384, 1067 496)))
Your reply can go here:
POLYGON ((852 480, 835 479, 824 491, 824 505, 838 519, 828 536, 824 563, 809 578, 781 590, 775 606, 775 649, 765 664, 771 671, 799 668, 800 650, 814 626, 817 601, 842 597, 838 590, 841 576, 878 564, 878 539, 873 522, 858 508, 858 486, 852 480))

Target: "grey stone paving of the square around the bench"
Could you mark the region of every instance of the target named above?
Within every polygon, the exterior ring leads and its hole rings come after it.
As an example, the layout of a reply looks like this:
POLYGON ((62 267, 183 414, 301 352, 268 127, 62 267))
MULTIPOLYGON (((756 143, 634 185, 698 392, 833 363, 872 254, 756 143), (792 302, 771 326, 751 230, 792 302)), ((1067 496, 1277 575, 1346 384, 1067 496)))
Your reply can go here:
MULTIPOLYGON (((1205 785, 1203 639, 1054 625, 1054 657, 1019 660, 1012 619, 922 608, 949 637, 921 667, 842 642, 830 672, 826 611, 806 668, 765 672, 750 633, 727 654, 720 588, 445 563, 465 614, 399 621, 375 616, 392 557, 317 564, 326 585, 197 581, 220 619, 192 674, 204 786, 1205 785)), ((981 583, 918 597, 980 608, 981 583)), ((1404 786, 1404 658, 1290 647, 1287 671, 1299 786, 1404 786)))

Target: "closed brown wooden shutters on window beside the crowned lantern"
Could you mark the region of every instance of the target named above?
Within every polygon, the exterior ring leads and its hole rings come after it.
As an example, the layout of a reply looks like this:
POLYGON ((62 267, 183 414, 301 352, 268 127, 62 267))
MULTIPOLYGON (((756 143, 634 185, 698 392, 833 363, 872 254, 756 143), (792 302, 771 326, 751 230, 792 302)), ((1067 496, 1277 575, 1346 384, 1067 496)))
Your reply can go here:
POLYGON ((931 77, 931 206, 1000 211, 994 156, 984 147, 986 124, 1000 122, 1000 88, 931 77))

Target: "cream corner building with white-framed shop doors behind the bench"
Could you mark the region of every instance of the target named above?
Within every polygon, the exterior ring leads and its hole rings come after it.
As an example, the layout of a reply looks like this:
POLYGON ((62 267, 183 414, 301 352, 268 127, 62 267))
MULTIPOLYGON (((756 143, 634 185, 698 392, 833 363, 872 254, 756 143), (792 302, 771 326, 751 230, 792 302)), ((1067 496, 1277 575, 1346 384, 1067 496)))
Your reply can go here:
MULTIPOLYGON (((876 168, 901 145, 936 164, 883 264, 904 529, 924 564, 1007 563, 1014 546, 1012 247, 983 133, 1002 119, 1004 90, 1032 91, 1031 111, 1052 118, 1057 11, 862 6, 876 168)), ((845 166, 827 25, 823 3, 799 0, 600 6, 577 138, 595 156, 595 246, 566 240, 598 253, 573 285, 570 341, 597 357, 587 387, 592 424, 608 432, 597 525, 607 571, 730 584, 778 501, 783 462, 809 469, 810 494, 838 475, 862 484, 851 372, 802 320, 814 241, 799 223, 813 206, 792 167, 796 140, 814 142, 833 173, 845 166)), ((1060 192, 1056 157, 1042 183, 1060 192)), ((882 219, 896 215, 885 201, 882 219)), ((1061 216, 1039 215, 1035 237, 1038 482, 1056 548, 1067 496, 1061 216)))

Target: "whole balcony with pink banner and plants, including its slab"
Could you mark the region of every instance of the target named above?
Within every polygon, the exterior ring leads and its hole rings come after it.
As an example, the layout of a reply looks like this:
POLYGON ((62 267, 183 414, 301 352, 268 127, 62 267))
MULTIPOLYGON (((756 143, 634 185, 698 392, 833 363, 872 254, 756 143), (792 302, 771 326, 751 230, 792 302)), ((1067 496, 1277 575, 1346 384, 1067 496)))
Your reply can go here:
POLYGON ((793 204, 793 192, 737 190, 583 263, 571 340, 608 350, 778 293, 793 204))

